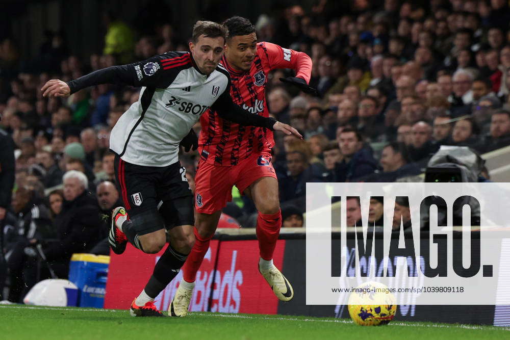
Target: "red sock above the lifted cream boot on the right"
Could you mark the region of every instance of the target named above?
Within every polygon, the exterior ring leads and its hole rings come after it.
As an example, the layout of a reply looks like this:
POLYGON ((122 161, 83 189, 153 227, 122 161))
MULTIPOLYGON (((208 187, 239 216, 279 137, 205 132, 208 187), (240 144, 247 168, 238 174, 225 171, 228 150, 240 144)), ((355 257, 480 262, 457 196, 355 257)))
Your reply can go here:
POLYGON ((274 247, 282 227, 282 211, 257 216, 257 239, 259 239, 260 257, 269 261, 273 258, 274 247))

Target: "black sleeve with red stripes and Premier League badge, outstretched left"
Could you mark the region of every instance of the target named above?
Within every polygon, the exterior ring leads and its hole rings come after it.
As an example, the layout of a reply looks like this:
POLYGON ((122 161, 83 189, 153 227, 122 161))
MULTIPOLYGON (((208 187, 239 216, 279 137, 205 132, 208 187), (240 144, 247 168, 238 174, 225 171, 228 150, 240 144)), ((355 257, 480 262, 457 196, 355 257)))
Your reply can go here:
POLYGON ((133 64, 110 66, 97 70, 72 80, 67 85, 71 89, 71 94, 99 84, 166 88, 168 86, 167 75, 190 62, 189 53, 168 52, 133 64))

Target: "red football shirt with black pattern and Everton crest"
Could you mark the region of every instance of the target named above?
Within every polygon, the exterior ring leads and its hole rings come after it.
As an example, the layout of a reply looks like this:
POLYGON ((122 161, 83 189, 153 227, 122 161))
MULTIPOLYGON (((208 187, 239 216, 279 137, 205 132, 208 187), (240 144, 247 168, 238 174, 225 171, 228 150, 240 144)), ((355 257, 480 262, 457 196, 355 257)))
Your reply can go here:
MULTIPOLYGON (((231 96, 236 104, 252 114, 269 116, 265 88, 268 73, 276 68, 292 68, 296 76, 310 81, 312 60, 303 52, 269 42, 257 44, 257 53, 249 71, 233 69, 226 57, 221 64, 232 79, 231 96)), ((264 127, 240 126, 223 120, 208 110, 200 117, 202 130, 198 151, 203 161, 214 165, 232 166, 253 152, 269 152, 274 145, 273 133, 264 127)))

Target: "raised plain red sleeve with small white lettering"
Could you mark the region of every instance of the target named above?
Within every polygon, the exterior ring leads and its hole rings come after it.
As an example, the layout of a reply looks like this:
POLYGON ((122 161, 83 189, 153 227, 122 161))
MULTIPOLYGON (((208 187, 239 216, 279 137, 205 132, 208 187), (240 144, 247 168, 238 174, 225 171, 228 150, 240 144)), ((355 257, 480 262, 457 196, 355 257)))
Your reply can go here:
POLYGON ((296 77, 304 79, 307 84, 312 76, 312 59, 303 52, 283 48, 270 42, 260 43, 264 49, 270 70, 277 68, 291 68, 296 72, 296 77))

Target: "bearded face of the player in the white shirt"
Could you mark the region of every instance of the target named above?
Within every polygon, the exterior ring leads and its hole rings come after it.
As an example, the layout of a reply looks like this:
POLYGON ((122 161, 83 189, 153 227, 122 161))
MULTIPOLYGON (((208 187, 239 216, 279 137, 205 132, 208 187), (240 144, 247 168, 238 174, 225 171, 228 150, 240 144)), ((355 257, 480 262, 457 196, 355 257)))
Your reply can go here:
POLYGON ((190 42, 189 46, 193 60, 200 72, 209 75, 223 57, 225 40, 222 37, 209 38, 202 34, 196 43, 190 42))

